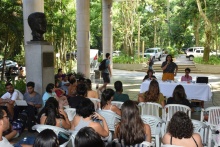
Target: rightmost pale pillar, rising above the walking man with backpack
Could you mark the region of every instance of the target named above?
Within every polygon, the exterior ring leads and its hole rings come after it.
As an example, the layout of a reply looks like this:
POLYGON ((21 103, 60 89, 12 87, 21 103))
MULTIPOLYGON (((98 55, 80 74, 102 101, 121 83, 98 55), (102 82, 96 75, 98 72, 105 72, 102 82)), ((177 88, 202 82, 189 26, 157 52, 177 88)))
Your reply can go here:
POLYGON ((105 54, 110 53, 112 56, 112 17, 111 17, 112 0, 102 0, 102 24, 103 24, 103 35, 102 35, 102 48, 103 58, 105 54))

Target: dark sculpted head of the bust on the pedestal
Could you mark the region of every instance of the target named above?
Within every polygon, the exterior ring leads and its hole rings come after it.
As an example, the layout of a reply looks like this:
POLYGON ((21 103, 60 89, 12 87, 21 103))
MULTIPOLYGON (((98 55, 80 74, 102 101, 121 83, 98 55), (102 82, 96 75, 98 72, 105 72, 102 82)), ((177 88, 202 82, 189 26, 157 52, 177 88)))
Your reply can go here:
POLYGON ((43 34, 46 32, 46 16, 42 12, 35 12, 28 16, 28 24, 32 30, 32 41, 44 41, 43 34))

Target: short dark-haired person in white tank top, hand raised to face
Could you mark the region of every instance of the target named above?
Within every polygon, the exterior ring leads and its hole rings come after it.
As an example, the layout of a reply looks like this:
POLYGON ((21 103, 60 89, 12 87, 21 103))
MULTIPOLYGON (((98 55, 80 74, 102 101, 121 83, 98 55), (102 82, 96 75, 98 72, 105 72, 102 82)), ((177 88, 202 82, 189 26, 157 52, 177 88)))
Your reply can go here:
POLYGON ((79 131, 84 127, 93 128, 102 137, 109 136, 108 126, 104 117, 95 112, 94 103, 90 99, 82 99, 80 101, 76 108, 76 115, 71 122, 71 130, 79 131), (102 121, 102 125, 97 120, 102 121))

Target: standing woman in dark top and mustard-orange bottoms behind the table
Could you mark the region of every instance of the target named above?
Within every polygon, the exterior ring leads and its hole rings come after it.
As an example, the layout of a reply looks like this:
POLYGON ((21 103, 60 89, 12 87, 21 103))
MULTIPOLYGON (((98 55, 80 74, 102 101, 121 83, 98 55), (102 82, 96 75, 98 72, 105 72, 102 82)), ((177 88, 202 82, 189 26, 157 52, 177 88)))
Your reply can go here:
POLYGON ((174 80, 174 76, 176 76, 178 71, 178 66, 173 62, 171 55, 166 56, 166 61, 162 63, 161 68, 163 70, 163 81, 174 80))

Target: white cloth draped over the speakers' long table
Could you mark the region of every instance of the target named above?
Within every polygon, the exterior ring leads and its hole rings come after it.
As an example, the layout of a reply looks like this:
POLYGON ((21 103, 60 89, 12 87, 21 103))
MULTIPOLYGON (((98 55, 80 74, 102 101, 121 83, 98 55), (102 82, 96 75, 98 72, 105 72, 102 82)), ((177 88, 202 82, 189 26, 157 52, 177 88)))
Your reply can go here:
MULTIPOLYGON (((173 90, 177 85, 182 85, 185 89, 187 99, 198 99, 209 101, 212 98, 212 92, 208 84, 203 83, 186 83, 186 82, 163 82, 158 81, 160 92, 167 98, 172 97, 173 90)), ((150 81, 145 80, 140 87, 140 93, 148 90, 150 81)))

